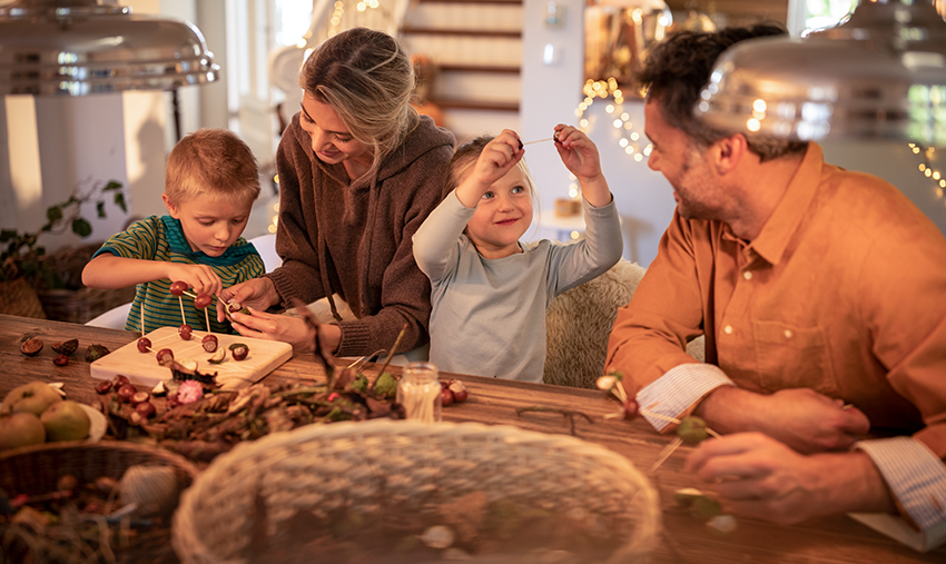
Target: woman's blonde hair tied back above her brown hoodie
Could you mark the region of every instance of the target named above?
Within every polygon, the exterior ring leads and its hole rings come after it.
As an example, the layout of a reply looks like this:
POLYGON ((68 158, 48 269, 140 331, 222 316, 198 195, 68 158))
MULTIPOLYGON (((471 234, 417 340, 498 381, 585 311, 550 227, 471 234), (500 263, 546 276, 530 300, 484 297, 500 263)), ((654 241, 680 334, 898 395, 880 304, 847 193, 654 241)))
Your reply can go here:
POLYGON ((382 31, 353 28, 326 39, 303 65, 299 86, 331 106, 371 150, 368 176, 420 122, 411 106, 414 66, 401 43, 382 31))

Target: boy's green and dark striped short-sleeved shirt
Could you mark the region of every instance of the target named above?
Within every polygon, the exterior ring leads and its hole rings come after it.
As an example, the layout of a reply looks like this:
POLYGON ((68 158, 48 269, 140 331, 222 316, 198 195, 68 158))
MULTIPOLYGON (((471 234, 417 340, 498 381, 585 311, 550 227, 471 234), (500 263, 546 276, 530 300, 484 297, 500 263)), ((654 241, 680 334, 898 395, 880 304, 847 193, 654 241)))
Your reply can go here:
MULTIPOLYGON (((92 258, 102 253, 141 260, 165 260, 188 265, 207 265, 217 273, 224 287, 262 276, 263 259, 252 243, 240 237, 219 257, 194 251, 184 237, 180 221, 170 216, 151 216, 131 224, 128 229, 109 237, 92 258)), ((229 323, 218 323, 216 299, 204 310, 194 307, 194 298, 173 296, 171 280, 167 278, 139 284, 125 329, 141 332, 141 311, 145 311, 145 333, 159 327, 179 327, 181 316, 194 330, 207 330, 207 319, 214 333, 234 333, 229 323)))

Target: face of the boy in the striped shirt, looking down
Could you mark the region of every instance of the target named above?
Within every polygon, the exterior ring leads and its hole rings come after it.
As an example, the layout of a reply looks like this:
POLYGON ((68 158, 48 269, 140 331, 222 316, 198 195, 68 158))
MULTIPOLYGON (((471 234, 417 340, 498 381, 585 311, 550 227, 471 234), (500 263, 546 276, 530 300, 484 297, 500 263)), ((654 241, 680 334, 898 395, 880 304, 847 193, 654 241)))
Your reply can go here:
POLYGON ((180 201, 177 206, 161 195, 171 217, 180 220, 184 236, 191 250, 219 257, 237 240, 249 220, 252 201, 199 195, 180 201))

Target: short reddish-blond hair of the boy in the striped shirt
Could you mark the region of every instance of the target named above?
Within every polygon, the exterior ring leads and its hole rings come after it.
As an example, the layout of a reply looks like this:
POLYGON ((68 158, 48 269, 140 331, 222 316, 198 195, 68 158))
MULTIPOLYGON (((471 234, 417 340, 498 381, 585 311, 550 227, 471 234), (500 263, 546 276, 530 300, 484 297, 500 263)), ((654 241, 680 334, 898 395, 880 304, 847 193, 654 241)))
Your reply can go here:
POLYGON ((233 131, 198 129, 171 149, 165 194, 175 206, 200 195, 252 202, 259 196, 256 157, 233 131))

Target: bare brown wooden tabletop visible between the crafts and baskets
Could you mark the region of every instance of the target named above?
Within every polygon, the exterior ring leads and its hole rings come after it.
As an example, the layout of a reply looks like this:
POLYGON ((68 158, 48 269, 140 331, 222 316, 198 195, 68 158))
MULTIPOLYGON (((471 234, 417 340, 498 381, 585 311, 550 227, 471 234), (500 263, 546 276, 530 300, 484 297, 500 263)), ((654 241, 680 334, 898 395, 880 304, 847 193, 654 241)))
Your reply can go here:
MULTIPOLYGON (((70 399, 91 403, 96 397, 89 365, 83 360, 86 347, 97 343, 115 350, 137 338, 136 334, 87 327, 59 321, 0 315, 0 397, 30 380, 63 382, 70 399), (20 344, 29 337, 40 337, 46 347, 37 357, 26 357, 20 344), (52 364, 51 345, 69 338, 79 339, 79 350, 68 366, 52 364)), ((377 366, 367 366, 373 374, 377 366)), ((297 355, 273 374, 265 383, 282 383, 294 378, 318 379, 322 370, 308 355, 297 355)), ((669 436, 657 434, 646 422, 605 419, 618 409, 617 402, 594 390, 524 384, 475 376, 460 376, 470 389, 470 399, 444 408, 444 419, 510 424, 542 433, 570 432, 570 422, 560 414, 525 413, 518 407, 546 406, 581 412, 574 417, 574 433, 580 438, 598 443, 628 457, 639 469, 647 472, 669 436)), ((778 526, 739 518, 738 530, 720 536, 678 508, 673 492, 681 487, 710 489, 682 471, 687 447, 679 448, 657 472, 654 483, 663 499, 664 533, 653 554, 653 562, 669 563, 883 563, 946 562, 946 548, 919 554, 876 533, 847 516, 819 518, 796 526, 778 526)))

